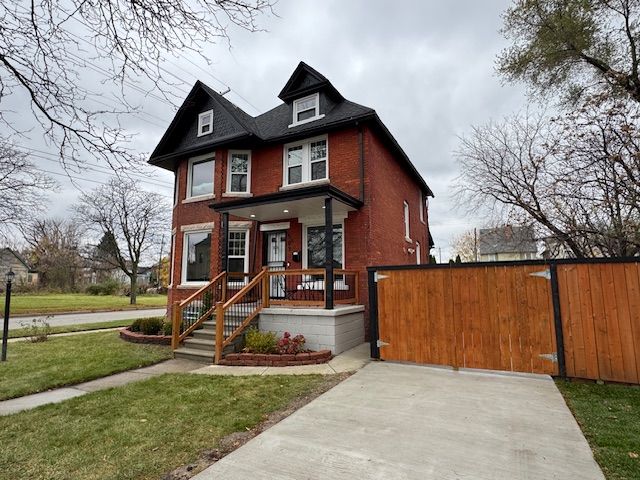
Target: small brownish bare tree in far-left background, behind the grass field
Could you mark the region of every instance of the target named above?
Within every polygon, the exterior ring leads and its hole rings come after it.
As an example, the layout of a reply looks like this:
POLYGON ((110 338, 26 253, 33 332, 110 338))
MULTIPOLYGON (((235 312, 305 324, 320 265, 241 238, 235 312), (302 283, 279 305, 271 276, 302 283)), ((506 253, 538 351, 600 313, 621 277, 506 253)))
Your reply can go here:
POLYGON ((49 289, 75 291, 82 281, 82 229, 72 220, 32 219, 21 227, 26 253, 49 289))

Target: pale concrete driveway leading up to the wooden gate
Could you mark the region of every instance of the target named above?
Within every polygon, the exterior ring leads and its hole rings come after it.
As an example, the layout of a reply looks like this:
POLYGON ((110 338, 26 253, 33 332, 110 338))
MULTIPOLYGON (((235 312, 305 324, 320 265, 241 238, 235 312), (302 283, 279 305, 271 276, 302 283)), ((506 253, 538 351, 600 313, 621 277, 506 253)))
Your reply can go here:
POLYGON ((604 480, 549 377, 383 362, 194 478, 604 480))

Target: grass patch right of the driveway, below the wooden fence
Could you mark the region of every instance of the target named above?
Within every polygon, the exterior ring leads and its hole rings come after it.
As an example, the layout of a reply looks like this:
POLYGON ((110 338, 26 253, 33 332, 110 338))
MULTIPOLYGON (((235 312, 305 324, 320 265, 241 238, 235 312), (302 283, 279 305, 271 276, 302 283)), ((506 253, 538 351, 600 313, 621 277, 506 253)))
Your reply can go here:
POLYGON ((607 479, 640 478, 640 387, 556 384, 607 479))

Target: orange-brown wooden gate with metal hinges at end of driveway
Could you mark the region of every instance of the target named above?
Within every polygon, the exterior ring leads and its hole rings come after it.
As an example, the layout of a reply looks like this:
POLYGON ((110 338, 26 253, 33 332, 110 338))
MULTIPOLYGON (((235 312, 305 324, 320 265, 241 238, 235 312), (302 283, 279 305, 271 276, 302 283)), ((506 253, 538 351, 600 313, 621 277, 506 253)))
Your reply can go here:
POLYGON ((379 270, 380 358, 557 374, 550 282, 540 275, 539 265, 379 270))

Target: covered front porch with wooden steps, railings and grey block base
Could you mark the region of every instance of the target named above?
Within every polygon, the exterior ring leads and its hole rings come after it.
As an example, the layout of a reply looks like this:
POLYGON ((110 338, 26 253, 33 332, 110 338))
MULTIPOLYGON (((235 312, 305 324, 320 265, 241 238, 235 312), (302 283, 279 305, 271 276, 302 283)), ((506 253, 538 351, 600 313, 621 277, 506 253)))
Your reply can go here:
POLYGON ((309 348, 334 354, 362 343, 363 266, 346 268, 345 255, 345 245, 361 245, 345 235, 361 206, 329 184, 212 205, 221 214, 222 271, 174 304, 176 353, 218 363, 242 348, 250 326, 302 334, 309 348))

